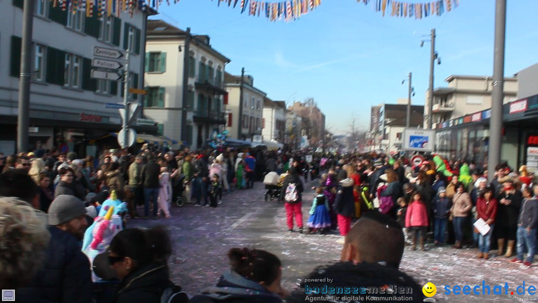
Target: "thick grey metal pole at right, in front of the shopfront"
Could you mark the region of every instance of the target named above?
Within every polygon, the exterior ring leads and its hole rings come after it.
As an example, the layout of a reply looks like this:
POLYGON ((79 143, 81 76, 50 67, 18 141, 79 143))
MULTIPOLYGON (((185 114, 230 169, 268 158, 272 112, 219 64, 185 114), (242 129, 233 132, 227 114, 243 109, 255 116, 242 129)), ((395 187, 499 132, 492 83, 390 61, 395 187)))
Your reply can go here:
POLYGON ((506 0, 495 2, 495 50, 493 53, 493 91, 491 97, 490 142, 487 150, 487 179, 493 180, 501 160, 502 98, 506 36, 506 0))

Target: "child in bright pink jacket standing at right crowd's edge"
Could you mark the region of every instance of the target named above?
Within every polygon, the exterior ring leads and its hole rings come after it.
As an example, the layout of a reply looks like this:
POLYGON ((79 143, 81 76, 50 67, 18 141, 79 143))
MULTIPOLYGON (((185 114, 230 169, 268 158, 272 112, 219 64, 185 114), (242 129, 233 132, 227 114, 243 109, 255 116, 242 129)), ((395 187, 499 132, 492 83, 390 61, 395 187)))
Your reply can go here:
POLYGON ((419 238, 420 250, 424 250, 424 236, 428 227, 428 213, 426 206, 422 203, 422 196, 419 192, 414 192, 412 202, 407 208, 405 215, 405 227, 411 232, 413 241, 412 250, 416 249, 416 239, 419 238))

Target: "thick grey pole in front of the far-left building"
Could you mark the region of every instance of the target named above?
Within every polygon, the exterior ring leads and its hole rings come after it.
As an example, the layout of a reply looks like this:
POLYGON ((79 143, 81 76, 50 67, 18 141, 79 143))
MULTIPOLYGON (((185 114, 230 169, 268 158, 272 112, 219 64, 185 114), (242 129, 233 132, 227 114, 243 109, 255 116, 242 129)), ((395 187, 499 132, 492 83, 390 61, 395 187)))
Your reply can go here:
POLYGON ((30 80, 32 77, 32 27, 34 0, 24 0, 23 37, 20 55, 19 109, 17 117, 17 152, 28 151, 30 125, 30 80))

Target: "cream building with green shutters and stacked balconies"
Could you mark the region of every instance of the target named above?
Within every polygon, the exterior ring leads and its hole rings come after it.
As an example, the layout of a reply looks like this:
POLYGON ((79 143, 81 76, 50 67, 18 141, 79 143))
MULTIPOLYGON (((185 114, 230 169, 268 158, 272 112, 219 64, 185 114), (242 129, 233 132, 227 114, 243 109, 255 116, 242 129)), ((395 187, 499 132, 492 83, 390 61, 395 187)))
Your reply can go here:
POLYGON ((162 135, 198 149, 223 130, 224 67, 230 59, 211 47, 208 36, 190 35, 162 20, 149 20, 146 32, 144 114, 162 135))

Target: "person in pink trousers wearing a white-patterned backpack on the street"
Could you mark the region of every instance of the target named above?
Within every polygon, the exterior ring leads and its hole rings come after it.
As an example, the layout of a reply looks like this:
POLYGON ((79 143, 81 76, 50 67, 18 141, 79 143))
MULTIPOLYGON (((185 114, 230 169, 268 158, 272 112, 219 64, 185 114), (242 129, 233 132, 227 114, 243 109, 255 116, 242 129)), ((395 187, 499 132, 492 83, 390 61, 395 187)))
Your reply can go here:
POLYGON ((301 207, 304 188, 299 178, 297 167, 289 168, 288 172, 289 174, 284 179, 284 182, 282 182, 280 200, 285 202, 288 230, 293 232, 293 217, 295 216, 295 223, 299 227, 299 233, 302 234, 303 221, 301 207))

